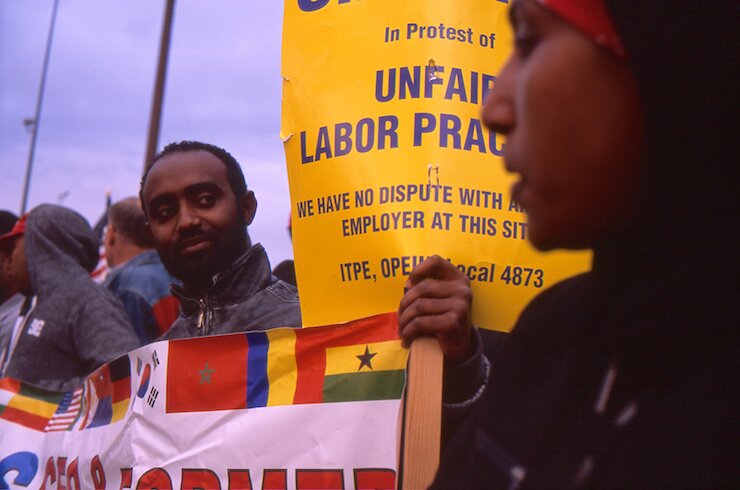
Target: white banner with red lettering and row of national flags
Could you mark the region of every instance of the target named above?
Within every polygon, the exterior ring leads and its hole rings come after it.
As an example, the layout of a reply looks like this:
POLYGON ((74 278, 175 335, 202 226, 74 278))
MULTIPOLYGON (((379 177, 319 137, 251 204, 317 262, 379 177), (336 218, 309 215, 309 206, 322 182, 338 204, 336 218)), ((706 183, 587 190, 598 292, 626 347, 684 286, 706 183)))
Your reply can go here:
POLYGON ((394 313, 156 342, 69 393, 0 380, 1 488, 391 489, 394 313))

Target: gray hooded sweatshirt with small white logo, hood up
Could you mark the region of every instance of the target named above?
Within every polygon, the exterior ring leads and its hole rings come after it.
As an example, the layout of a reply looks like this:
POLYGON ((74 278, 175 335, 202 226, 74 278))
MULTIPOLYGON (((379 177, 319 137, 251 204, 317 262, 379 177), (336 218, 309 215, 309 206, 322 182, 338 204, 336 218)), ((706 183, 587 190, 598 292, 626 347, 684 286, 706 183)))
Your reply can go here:
POLYGON ((35 301, 26 301, 5 376, 68 391, 101 364, 139 346, 120 302, 90 279, 98 239, 87 221, 61 206, 34 208, 25 253, 35 301))

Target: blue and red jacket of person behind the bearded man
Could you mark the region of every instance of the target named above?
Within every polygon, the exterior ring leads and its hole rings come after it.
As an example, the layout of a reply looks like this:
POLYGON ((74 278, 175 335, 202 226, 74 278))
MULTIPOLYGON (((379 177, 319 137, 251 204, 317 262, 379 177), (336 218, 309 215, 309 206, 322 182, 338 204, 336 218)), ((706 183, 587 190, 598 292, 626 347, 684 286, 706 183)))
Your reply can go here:
POLYGON ((147 250, 113 269, 104 285, 123 303, 142 343, 154 341, 177 319, 179 302, 155 250, 147 250))

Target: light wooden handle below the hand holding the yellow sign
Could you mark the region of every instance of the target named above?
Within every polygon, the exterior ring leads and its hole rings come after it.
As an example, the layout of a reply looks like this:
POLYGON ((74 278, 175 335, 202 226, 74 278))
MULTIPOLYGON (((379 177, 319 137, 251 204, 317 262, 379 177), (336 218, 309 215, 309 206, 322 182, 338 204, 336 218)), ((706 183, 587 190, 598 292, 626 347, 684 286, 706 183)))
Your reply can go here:
POLYGON ((403 490, 427 488, 439 466, 443 360, 437 339, 422 337, 411 344, 399 466, 403 490))

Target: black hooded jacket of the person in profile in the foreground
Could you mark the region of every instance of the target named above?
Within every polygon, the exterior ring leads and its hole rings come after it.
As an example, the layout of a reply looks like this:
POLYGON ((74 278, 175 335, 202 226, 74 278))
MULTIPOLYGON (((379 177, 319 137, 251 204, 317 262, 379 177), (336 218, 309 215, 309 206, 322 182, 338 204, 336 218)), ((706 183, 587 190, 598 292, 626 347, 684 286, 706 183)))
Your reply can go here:
POLYGON ((740 5, 607 5, 641 93, 645 202, 489 346, 434 488, 740 488, 740 5))

